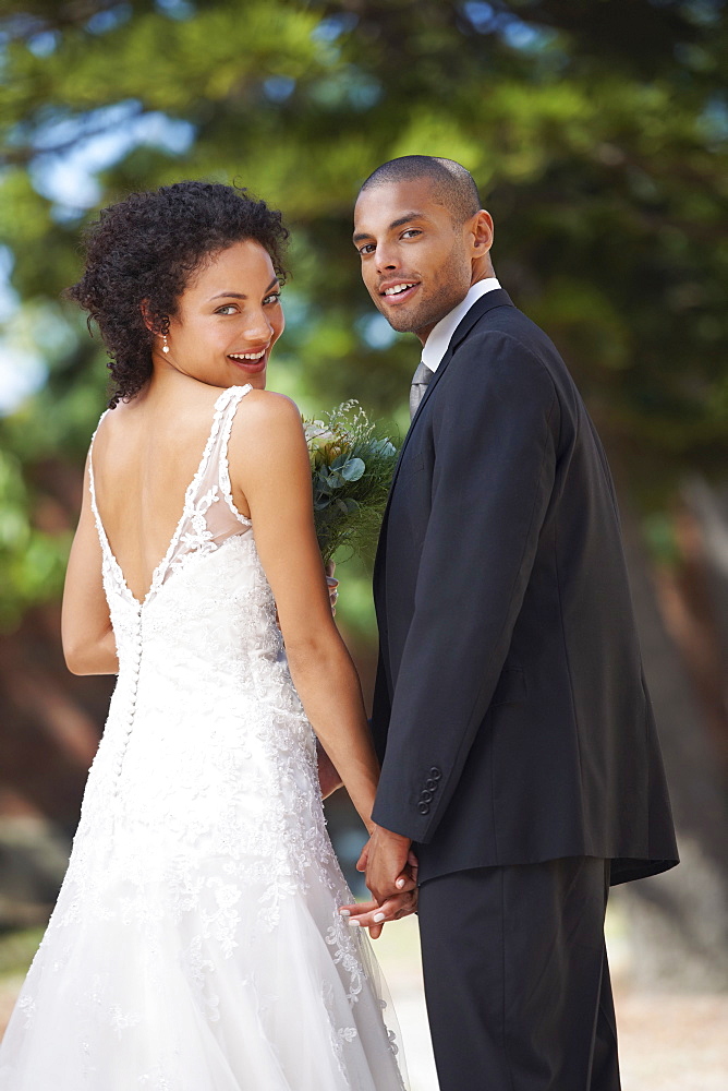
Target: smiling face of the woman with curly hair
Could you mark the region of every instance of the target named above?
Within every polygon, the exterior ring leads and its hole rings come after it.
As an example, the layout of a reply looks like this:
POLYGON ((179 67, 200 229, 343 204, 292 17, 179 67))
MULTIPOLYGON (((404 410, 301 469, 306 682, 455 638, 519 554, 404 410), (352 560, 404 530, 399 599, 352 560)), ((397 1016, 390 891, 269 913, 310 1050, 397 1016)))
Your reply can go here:
POLYGON ((210 386, 266 385, 270 350, 283 332, 280 285, 258 242, 235 242, 193 276, 170 317, 167 341, 155 338, 155 367, 171 367, 210 386))

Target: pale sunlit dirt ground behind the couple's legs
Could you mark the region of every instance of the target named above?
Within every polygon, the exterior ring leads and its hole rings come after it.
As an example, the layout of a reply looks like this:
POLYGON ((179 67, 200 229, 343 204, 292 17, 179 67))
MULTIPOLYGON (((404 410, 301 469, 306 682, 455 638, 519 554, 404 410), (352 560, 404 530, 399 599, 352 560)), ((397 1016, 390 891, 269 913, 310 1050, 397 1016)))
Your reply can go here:
MULTIPOLYGON (((374 946, 400 1022, 411 1091, 437 1091, 416 918, 388 925, 374 946)), ((622 1091, 728 1091, 728 994, 638 992, 618 946, 611 961, 622 1091)), ((0 1033, 22 982, 22 973, 0 979, 0 1033)))

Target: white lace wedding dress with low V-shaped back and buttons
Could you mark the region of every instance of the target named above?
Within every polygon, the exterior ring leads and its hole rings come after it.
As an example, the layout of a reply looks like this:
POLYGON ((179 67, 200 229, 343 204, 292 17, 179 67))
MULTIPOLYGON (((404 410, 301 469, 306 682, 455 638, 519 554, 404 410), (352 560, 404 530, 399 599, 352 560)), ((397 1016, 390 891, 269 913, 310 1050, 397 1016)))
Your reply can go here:
POLYGON ((353 899, 315 736, 232 501, 228 440, 250 388, 216 401, 144 602, 109 547, 92 469, 119 680, 0 1047, 2 1091, 405 1086, 368 936, 337 912, 353 899))

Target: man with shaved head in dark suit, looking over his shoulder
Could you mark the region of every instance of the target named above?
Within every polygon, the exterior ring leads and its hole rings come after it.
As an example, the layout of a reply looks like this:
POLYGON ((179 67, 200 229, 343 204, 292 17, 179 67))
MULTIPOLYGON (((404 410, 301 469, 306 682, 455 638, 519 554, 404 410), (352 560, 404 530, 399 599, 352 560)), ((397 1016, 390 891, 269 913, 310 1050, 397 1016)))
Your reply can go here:
POLYGON ((604 449, 492 242, 450 159, 362 187, 364 283, 423 346, 374 576, 363 862, 383 904, 418 858, 441 1091, 617 1091, 608 889, 678 855, 604 449))

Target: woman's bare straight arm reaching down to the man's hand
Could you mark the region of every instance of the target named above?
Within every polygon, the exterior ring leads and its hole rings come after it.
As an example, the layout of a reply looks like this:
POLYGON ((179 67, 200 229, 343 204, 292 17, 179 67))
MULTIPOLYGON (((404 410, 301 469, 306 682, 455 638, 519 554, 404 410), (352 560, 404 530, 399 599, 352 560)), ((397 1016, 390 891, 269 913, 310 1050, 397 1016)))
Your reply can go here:
POLYGON ((331 616, 314 530, 308 452, 294 404, 252 391, 238 411, 230 456, 233 487, 250 508, 276 598, 293 683, 371 832, 379 766, 359 675, 331 616))

